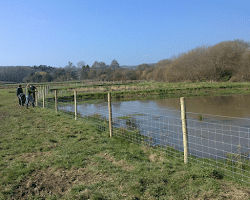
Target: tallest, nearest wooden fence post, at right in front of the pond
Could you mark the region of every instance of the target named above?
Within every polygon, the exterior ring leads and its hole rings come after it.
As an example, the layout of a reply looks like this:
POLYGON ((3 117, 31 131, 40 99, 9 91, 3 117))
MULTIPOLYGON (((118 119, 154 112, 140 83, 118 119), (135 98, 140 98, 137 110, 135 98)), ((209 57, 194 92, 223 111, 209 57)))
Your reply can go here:
POLYGON ((185 97, 181 97, 181 121, 183 132, 183 148, 184 148, 184 163, 188 163, 188 133, 187 133, 187 120, 186 120, 186 101, 185 97))

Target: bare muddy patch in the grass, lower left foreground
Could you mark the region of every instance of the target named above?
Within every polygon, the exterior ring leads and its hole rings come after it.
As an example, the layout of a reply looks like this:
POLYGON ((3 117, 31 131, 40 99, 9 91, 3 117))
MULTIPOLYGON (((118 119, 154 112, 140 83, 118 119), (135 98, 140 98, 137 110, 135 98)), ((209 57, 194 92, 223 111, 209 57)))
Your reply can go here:
POLYGON ((75 185, 88 185, 101 180, 107 181, 108 177, 101 174, 91 174, 86 168, 38 170, 19 183, 12 198, 39 197, 39 199, 47 199, 52 196, 60 198, 75 185))

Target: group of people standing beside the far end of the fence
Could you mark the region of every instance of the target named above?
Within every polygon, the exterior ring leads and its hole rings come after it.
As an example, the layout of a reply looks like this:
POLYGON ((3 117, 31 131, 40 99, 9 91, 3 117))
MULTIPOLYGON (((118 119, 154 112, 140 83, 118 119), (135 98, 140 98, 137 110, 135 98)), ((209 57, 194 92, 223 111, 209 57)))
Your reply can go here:
POLYGON ((28 84, 25 88, 25 94, 23 93, 22 85, 19 85, 16 90, 16 95, 20 106, 24 106, 24 104, 26 104, 26 108, 28 108, 30 102, 31 105, 35 107, 36 87, 34 85, 28 84))

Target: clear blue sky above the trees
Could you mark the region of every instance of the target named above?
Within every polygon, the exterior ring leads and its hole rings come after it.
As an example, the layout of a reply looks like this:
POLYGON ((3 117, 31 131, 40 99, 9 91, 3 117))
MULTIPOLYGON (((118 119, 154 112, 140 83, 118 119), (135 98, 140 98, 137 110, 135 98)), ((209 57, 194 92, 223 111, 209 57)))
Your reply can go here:
POLYGON ((1 0, 0 66, 157 63, 250 41, 249 0, 1 0))

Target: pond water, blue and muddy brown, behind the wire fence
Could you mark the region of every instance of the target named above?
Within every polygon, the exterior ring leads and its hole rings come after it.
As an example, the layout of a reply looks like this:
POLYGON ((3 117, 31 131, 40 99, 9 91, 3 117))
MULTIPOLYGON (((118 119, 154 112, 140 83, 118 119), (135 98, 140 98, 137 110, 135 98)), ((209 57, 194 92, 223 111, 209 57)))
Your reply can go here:
MULTIPOLYGON (((187 98, 189 152, 198 157, 216 159, 225 159, 229 153, 249 155, 248 102, 250 95, 187 98)), ((74 111, 73 105, 66 109, 74 111)), ((107 103, 82 104, 77 110, 82 116, 99 113, 108 119, 107 103)), ((179 98, 114 102, 112 115, 115 127, 132 124, 140 129, 140 134, 152 138, 152 145, 183 150, 179 98), (129 120, 121 118, 124 116, 129 116, 129 120)))

